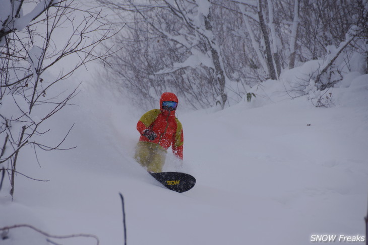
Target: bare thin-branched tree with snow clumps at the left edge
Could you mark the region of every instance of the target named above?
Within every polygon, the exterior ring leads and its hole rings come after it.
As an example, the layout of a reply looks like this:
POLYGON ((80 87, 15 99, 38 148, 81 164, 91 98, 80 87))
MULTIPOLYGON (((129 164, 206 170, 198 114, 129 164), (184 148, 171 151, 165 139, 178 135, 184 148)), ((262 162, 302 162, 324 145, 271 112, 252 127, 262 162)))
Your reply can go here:
POLYGON ((62 149, 65 138, 45 143, 43 136, 50 129, 44 122, 71 104, 77 93, 76 87, 61 86, 63 81, 87 62, 105 58, 94 50, 110 31, 99 10, 79 11, 69 0, 1 0, 0 5, 0 168, 10 177, 13 196, 16 175, 26 175, 17 171, 24 147, 33 147, 35 153, 62 149), (31 11, 23 15, 23 10, 31 11), (56 68, 68 56, 79 57, 78 62, 72 68, 56 68), (58 75, 48 72, 50 68, 58 75))

